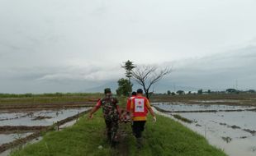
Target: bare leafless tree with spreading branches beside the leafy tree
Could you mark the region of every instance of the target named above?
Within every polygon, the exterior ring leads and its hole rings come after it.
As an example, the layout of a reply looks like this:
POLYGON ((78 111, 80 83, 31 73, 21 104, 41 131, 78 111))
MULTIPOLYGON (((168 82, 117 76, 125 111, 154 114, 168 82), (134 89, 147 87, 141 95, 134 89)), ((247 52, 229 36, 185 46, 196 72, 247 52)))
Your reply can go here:
POLYGON ((134 80, 143 87, 146 97, 149 99, 151 95, 149 93, 150 87, 161 80, 164 76, 168 75, 170 72, 171 69, 168 67, 159 69, 155 66, 141 66, 135 67, 131 74, 134 80))

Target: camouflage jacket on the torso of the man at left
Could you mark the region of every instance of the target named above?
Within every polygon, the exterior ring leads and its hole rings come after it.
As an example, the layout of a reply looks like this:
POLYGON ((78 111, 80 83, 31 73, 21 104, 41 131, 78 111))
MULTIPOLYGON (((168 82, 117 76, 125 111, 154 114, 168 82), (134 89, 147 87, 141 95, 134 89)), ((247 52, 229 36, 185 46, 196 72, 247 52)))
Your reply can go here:
POLYGON ((113 97, 105 97, 100 100, 105 120, 118 120, 119 114, 116 106, 118 100, 113 97))

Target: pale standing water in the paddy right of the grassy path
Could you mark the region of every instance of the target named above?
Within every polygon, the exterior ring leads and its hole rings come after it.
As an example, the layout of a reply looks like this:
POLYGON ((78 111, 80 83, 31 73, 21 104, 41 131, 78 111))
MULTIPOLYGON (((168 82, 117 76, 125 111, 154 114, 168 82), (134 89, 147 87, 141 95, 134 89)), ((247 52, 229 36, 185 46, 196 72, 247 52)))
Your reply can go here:
POLYGON ((154 105, 166 111, 171 111, 164 113, 169 117, 172 117, 173 114, 178 114, 191 120, 191 124, 179 122, 205 136, 211 145, 223 149, 230 156, 256 155, 256 112, 246 111, 246 109, 254 107, 230 105, 205 106, 205 104, 184 103, 154 103, 154 105), (221 112, 239 109, 244 111, 221 112), (217 112, 189 112, 205 110, 216 110, 217 112))

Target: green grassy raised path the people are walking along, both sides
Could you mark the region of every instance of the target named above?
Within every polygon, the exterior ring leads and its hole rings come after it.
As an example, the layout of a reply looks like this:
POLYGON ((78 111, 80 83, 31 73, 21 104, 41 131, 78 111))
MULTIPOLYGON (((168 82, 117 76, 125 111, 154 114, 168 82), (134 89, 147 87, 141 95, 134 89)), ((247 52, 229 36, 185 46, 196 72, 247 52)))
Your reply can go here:
POLYGON ((156 123, 146 123, 144 132, 144 148, 136 149, 135 137, 131 135, 130 125, 122 123, 120 126, 126 130, 128 136, 125 144, 126 150, 111 149, 105 136, 105 123, 102 111, 99 110, 92 120, 80 118, 78 123, 64 131, 47 133, 43 140, 24 149, 15 151, 12 156, 83 156, 83 155, 170 155, 170 156, 222 156, 220 149, 209 145, 201 135, 188 130, 180 123, 168 117, 158 116, 156 123), (99 145, 103 149, 97 149, 99 145), (118 151, 119 150, 119 151, 118 151))

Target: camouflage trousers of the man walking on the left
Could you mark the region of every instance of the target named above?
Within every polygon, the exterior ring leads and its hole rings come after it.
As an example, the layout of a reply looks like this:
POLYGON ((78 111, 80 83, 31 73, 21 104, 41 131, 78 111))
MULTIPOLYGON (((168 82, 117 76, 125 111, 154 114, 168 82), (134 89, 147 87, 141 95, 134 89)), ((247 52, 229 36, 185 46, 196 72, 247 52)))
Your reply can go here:
POLYGON ((116 134, 118 130, 118 119, 117 120, 105 120, 107 128, 107 139, 113 144, 116 142, 116 134))

